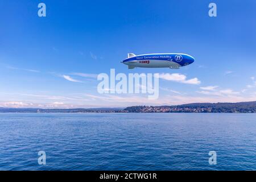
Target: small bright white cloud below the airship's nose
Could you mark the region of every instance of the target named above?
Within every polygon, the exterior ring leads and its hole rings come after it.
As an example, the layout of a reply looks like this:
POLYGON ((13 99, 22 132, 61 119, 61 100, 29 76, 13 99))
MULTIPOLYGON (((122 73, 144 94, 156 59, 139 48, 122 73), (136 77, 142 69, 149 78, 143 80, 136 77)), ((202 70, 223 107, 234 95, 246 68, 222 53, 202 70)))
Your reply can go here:
POLYGON ((161 73, 159 75, 159 78, 162 78, 164 80, 169 80, 169 81, 176 81, 176 82, 181 82, 183 84, 193 84, 193 85, 199 85, 201 83, 198 78, 192 78, 187 80, 187 76, 182 75, 180 73, 161 73))

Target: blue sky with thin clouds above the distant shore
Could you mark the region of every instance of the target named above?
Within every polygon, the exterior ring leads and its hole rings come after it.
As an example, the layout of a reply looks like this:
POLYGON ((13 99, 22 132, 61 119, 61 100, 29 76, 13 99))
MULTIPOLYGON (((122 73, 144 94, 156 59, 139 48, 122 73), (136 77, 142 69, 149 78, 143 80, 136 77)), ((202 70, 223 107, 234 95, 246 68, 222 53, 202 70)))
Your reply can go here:
POLYGON ((253 0, 5 0, 0 7, 0 106, 125 107, 256 100, 253 0), (38 16, 40 2, 46 4, 46 17, 38 16), (210 2, 217 4, 217 17, 208 16, 210 2), (119 61, 128 52, 182 52, 196 61, 178 70, 127 69, 119 61), (125 74, 162 74, 159 99, 98 94, 96 76, 111 68, 125 74), (197 78, 200 84, 180 81, 184 76, 197 78))

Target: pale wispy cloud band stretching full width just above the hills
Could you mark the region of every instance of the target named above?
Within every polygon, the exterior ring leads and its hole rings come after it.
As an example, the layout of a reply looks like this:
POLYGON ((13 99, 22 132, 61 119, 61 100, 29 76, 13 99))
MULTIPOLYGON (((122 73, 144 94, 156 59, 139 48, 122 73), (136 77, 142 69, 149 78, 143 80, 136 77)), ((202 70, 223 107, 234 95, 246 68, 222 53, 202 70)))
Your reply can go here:
MULTIPOLYGON (((141 94, 84 94, 81 97, 71 98, 77 100, 64 99, 64 96, 44 96, 35 95, 35 97, 42 97, 42 100, 34 101, 34 99, 27 98, 31 101, 0 101, 0 107, 40 107, 40 108, 88 108, 88 107, 125 107, 133 105, 179 105, 193 102, 242 102, 255 101, 256 93, 250 94, 250 97, 242 96, 231 89, 218 91, 201 90, 200 96, 186 96, 180 94, 160 96, 158 100, 148 100, 146 96, 141 94), (228 91, 227 91, 228 90, 228 91), (214 97, 213 97, 214 96, 214 97), (56 100, 52 100, 56 98, 56 100), (57 100, 59 98, 60 100, 57 100), (80 99, 81 98, 81 99, 80 99), (86 102, 84 100, 86 100, 86 102), (49 100, 48 100, 49 99, 49 100), (85 105, 90 103, 90 105, 85 105), (93 103, 93 105, 91 105, 93 103)), ((28 94, 30 95, 30 94, 28 94)), ((34 95, 32 95, 34 96, 34 95)))

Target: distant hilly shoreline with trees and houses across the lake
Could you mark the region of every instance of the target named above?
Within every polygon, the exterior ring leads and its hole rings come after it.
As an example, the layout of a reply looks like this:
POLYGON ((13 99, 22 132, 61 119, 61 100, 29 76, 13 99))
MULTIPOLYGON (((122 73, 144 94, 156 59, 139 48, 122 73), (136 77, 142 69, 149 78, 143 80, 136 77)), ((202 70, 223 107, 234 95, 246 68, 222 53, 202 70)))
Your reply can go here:
POLYGON ((0 113, 256 113, 256 101, 237 103, 193 103, 175 106, 130 106, 41 109, 0 107, 0 113))

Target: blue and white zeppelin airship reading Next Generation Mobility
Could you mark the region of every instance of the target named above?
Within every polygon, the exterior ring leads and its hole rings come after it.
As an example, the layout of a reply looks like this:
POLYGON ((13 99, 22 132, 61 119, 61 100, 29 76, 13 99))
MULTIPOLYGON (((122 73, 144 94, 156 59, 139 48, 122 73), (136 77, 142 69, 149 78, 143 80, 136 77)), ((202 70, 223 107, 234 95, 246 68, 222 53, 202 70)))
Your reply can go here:
POLYGON ((128 65, 129 69, 136 67, 179 69, 194 61, 194 57, 185 53, 151 53, 146 55, 128 53, 128 57, 121 63, 128 65))

